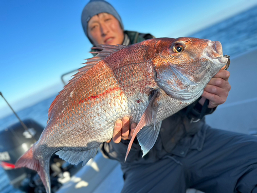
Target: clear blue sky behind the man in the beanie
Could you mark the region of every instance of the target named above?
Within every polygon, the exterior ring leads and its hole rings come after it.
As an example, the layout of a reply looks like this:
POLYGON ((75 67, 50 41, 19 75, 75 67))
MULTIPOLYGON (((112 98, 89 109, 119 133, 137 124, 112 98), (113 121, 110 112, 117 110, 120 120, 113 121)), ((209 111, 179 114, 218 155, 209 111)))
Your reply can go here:
MULTIPOLYGON (((59 92, 61 75, 91 57, 81 26, 87 2, 0 1, 0 92, 15 110, 59 92)), ((171 38, 257 5, 257 0, 108 2, 120 13, 125 29, 171 38)), ((9 113, 3 109, 6 104, 0 98, 0 117, 9 113)))

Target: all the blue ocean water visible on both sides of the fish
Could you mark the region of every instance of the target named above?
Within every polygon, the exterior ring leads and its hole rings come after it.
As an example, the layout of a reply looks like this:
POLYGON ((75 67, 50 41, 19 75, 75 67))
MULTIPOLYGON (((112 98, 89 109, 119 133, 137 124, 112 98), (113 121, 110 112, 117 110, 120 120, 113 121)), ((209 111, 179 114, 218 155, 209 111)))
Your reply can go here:
MULTIPOLYGON (((223 53, 230 55, 231 58, 244 54, 257 47, 257 6, 193 33, 190 37, 220 41, 223 45, 223 53)), ((17 112, 17 114, 21 119, 31 118, 45 126, 48 109, 54 98, 55 96, 52 96, 17 112)), ((0 130, 15 122, 17 122, 17 119, 14 115, 0 119, 0 130)), ((21 192, 9 185, 8 177, 2 168, 0 168, 0 192, 21 192)))

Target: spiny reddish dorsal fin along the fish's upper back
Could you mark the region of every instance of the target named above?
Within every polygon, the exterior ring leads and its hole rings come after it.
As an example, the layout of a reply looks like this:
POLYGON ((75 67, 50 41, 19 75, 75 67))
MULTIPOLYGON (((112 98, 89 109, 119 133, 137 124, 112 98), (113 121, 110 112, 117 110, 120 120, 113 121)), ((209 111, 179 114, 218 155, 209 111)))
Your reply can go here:
MULTIPOLYGON (((48 121, 50 119, 50 114, 51 111, 53 109, 53 107, 55 106, 55 104, 57 103, 58 99, 60 98, 60 96, 74 83, 76 82, 77 79, 79 79, 82 75, 84 75, 91 67, 93 67, 94 65, 96 65, 98 62, 100 62, 102 59, 104 59, 105 57, 113 54, 114 52, 125 48, 126 46, 123 45, 98 45, 96 47, 93 47, 92 49, 98 49, 99 51, 91 51, 90 53, 92 54, 98 54, 93 58, 88 58, 86 59, 87 61, 83 64, 86 64, 85 66, 83 66, 82 68, 79 68, 79 72, 75 75, 73 75, 74 77, 68 82, 68 84, 66 84, 63 88, 63 90, 61 92, 59 92, 59 94, 57 95, 57 97, 53 100, 49 110, 48 110, 48 121)), ((48 122, 47 121, 47 122, 48 122)))

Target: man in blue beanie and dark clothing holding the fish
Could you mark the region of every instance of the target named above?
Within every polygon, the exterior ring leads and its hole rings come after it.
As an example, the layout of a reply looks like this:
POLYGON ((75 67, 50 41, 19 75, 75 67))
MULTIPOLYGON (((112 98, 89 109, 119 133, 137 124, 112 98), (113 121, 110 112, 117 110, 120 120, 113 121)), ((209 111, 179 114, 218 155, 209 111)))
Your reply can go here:
MULTIPOLYGON (((153 38, 124 31, 119 14, 101 0, 85 6, 82 26, 93 45, 130 45, 153 38)), ((229 76, 228 71, 219 71, 199 100, 163 120, 154 147, 144 157, 135 141, 124 163, 136 125, 130 129, 128 117, 116 121, 112 141, 101 149, 121 163, 122 192, 257 192, 257 137, 211 129, 203 117, 226 101, 229 76)))

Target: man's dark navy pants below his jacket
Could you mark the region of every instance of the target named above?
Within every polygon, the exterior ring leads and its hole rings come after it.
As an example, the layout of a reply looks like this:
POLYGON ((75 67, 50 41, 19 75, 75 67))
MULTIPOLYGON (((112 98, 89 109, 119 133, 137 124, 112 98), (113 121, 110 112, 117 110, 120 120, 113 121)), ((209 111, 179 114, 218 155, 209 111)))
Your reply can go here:
POLYGON ((201 151, 133 166, 124 178, 122 193, 185 193, 187 188, 206 193, 257 193, 257 137, 207 129, 201 151))

